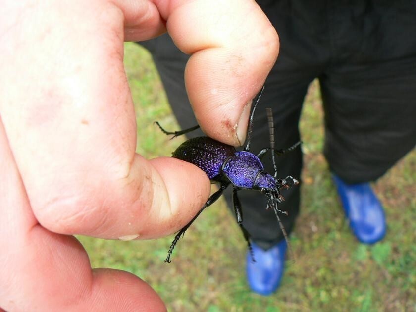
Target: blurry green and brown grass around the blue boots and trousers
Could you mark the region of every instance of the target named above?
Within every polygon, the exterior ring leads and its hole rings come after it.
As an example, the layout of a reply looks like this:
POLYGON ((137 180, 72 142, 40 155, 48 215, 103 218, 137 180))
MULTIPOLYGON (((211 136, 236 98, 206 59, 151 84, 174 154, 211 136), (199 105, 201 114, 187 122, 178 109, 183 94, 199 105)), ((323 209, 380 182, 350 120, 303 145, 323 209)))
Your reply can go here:
MULTIPOLYGON (((132 43, 125 48, 138 120, 137 152, 149 158, 170 156, 182 139, 169 141, 153 124, 159 120, 168 129, 178 129, 155 67, 145 50, 132 43)), ((249 291, 246 244, 222 199, 187 231, 171 264, 163 260, 172 237, 130 242, 81 237, 93 267, 139 275, 169 311, 416 311, 416 153, 374 186, 386 209, 386 238, 374 246, 359 244, 344 221, 321 154, 322 119, 313 83, 301 121, 302 208, 291 236, 296 262, 288 261, 273 296, 249 291)))

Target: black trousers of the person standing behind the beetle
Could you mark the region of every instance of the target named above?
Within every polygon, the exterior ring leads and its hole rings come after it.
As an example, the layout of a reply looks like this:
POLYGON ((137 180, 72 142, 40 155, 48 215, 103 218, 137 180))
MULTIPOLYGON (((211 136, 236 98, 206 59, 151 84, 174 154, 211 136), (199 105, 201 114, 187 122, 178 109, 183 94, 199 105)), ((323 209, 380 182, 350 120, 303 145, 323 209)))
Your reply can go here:
MULTIPOLYGON (((376 180, 416 143, 416 1, 259 0, 280 37, 280 54, 265 83, 262 107, 272 107, 276 148, 300 140, 302 104, 319 79, 325 111, 324 155, 348 183, 376 180)), ((143 44, 153 55, 168 100, 182 128, 197 124, 183 76, 188 55, 168 35, 143 44)), ((250 48, 250 47, 248 47, 250 48)), ((254 124, 251 151, 269 146, 264 110, 254 124)), ((195 133, 194 135, 201 135, 195 133)), ((300 149, 276 158, 279 177, 300 177, 300 149)), ((273 172, 271 162, 265 169, 273 172)), ((300 188, 280 206, 288 232, 299 212, 300 188)), ((267 249, 282 239, 264 196, 239 192, 243 224, 267 249)), ((226 196, 232 207, 231 196, 226 196)))

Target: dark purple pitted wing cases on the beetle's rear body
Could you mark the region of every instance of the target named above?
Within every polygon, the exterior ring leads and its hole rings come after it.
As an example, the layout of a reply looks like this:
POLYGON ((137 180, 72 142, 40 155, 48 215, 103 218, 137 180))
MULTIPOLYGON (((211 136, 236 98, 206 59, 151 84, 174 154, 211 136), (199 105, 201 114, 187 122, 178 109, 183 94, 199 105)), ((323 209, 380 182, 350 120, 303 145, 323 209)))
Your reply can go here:
POLYGON ((210 180, 221 180, 221 166, 235 155, 235 148, 209 137, 193 138, 182 143, 172 157, 190 162, 208 175, 210 180))

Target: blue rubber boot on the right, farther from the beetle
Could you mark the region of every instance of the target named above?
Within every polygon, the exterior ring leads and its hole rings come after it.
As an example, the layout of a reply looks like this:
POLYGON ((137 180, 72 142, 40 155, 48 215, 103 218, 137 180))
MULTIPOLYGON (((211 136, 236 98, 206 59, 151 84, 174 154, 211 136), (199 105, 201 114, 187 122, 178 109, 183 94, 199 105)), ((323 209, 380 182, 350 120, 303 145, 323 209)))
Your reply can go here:
POLYGON ((368 183, 347 184, 335 174, 332 178, 341 198, 342 207, 357 239, 373 244, 386 234, 386 218, 380 201, 368 183))

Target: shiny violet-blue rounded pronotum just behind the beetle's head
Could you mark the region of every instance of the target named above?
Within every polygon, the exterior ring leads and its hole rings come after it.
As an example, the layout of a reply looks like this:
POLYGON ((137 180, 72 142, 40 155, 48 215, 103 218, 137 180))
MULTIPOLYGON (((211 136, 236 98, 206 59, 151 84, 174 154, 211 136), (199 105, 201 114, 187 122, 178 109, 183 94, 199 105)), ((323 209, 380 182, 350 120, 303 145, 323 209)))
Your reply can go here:
POLYGON ((236 186, 251 189, 256 176, 264 169, 260 159, 253 153, 238 151, 224 164, 223 172, 236 186))

